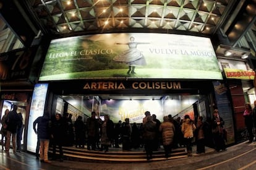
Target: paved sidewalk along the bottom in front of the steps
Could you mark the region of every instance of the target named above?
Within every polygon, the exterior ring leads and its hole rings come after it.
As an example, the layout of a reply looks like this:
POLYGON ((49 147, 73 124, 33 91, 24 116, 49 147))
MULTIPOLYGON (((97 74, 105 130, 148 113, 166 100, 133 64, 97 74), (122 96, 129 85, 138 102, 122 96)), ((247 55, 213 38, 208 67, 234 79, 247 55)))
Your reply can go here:
MULTIPOLYGON (((31 153, 5 153, 0 152, 0 169, 17 169, 17 170, 30 170, 30 169, 92 169, 92 170, 156 170, 156 169, 198 169, 198 167, 208 166, 211 162, 217 163, 226 159, 231 159, 236 154, 242 155, 243 152, 248 152, 256 149, 256 142, 253 143, 239 143, 228 147, 227 151, 216 152, 212 148, 206 148, 206 153, 196 154, 195 146, 193 147, 193 156, 185 158, 168 159, 162 161, 148 161, 145 163, 96 163, 96 162, 77 162, 77 161, 53 161, 52 163, 41 163, 31 153)), ((251 153, 255 153, 252 152, 251 153)), ((243 161, 243 160, 242 160, 243 161)), ((230 165, 229 165, 230 166, 230 165)), ((233 169, 223 167, 221 169, 233 169)), ((236 164, 232 164, 236 167, 236 164)), ((214 169, 214 168, 213 168, 214 169)), ((236 169, 236 168, 234 168, 236 169)))

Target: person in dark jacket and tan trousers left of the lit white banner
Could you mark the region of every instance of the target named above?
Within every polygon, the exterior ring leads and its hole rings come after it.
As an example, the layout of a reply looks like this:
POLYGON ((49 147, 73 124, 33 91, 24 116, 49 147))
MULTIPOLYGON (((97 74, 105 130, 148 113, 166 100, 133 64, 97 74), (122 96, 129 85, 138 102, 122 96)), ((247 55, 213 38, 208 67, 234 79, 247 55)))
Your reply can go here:
POLYGON ((20 122, 20 117, 17 113, 18 106, 14 105, 12 111, 8 114, 6 119, 7 124, 7 140, 6 140, 6 151, 9 153, 11 137, 12 137, 12 150, 16 153, 16 141, 17 141, 17 129, 20 122))

